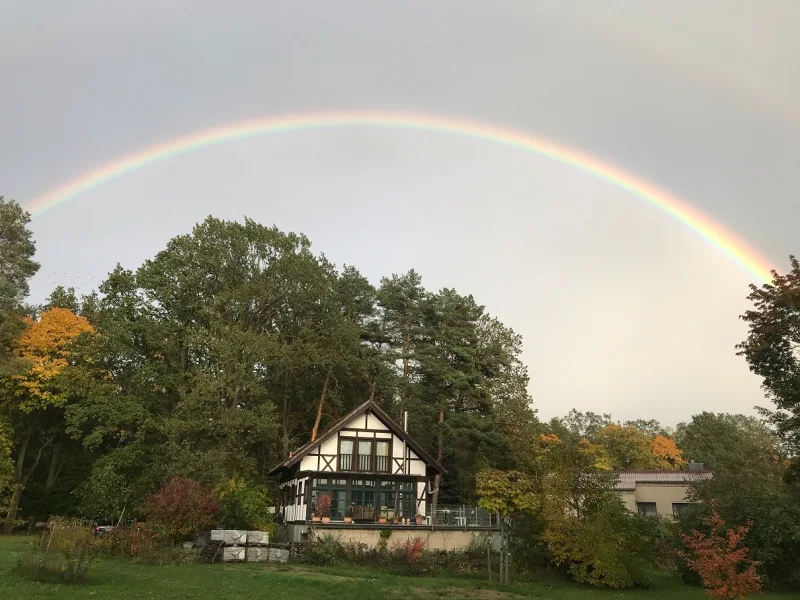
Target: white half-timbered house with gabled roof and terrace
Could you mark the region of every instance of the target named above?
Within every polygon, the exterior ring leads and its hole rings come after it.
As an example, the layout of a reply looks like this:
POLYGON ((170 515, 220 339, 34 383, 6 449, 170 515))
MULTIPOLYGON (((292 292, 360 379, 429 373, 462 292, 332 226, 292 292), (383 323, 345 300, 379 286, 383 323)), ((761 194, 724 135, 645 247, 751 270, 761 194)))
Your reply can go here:
POLYGON ((405 427, 368 400, 270 471, 280 488, 278 535, 301 542, 325 531, 373 545, 391 528, 400 541, 424 533, 431 548, 457 549, 472 537, 458 532, 499 529, 497 516, 477 507, 438 506, 432 514, 434 479, 443 473, 405 427))

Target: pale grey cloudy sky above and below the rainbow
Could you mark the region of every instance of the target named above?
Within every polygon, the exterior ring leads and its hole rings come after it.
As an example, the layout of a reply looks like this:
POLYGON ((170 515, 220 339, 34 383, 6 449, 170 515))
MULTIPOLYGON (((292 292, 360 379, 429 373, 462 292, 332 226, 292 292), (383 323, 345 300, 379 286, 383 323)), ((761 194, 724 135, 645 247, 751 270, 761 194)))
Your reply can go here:
MULTIPOLYGON (((397 110, 580 149, 787 270, 800 252, 800 3, 0 0, 0 195, 30 205, 175 136, 397 110)), ((40 273, 89 292, 208 215, 303 232, 373 283, 411 268, 522 334, 543 418, 668 425, 767 405, 736 356, 752 275, 630 192, 546 157, 403 129, 260 136, 35 215, 40 273)))

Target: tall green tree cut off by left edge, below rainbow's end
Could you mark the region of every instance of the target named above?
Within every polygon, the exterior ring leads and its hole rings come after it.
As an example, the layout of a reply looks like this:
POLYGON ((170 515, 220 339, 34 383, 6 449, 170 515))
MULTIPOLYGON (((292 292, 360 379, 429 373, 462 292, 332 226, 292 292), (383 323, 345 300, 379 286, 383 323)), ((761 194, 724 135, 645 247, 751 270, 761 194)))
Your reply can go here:
POLYGON ((30 220, 19 204, 0 196, 0 367, 11 358, 10 347, 24 329, 21 304, 28 280, 39 270, 30 220))

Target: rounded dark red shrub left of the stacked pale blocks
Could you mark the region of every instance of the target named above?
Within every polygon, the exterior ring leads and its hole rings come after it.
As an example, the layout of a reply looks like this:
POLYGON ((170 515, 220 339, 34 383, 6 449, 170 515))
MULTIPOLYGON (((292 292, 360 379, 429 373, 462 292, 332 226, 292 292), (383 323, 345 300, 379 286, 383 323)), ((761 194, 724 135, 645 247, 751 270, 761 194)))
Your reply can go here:
POLYGON ((169 483, 147 498, 145 513, 158 531, 180 541, 217 521, 219 504, 211 486, 193 479, 173 477, 169 483))

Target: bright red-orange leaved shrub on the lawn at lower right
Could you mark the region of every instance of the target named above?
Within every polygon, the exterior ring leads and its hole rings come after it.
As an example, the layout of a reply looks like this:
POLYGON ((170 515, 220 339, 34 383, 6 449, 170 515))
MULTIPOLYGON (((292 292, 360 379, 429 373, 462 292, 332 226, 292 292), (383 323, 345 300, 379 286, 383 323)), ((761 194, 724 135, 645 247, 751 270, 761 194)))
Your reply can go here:
POLYGON ((711 501, 711 516, 703 519, 711 529, 710 535, 696 529, 691 535, 681 534, 688 552, 679 552, 687 566, 700 575, 706 593, 718 600, 744 598, 761 590, 761 578, 756 572, 758 561, 747 558, 747 548, 742 546, 752 525, 739 525, 726 529, 717 513, 717 501, 711 501))

